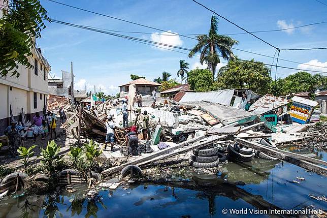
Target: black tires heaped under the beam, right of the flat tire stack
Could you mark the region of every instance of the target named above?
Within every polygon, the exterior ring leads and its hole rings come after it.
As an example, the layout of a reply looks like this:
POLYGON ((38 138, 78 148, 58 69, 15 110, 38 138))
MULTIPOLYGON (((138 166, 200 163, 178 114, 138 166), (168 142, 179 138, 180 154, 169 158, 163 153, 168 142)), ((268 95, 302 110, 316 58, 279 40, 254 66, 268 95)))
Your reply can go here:
POLYGON ((249 162, 254 157, 254 150, 252 148, 241 146, 238 143, 228 145, 228 160, 236 162, 249 162))

